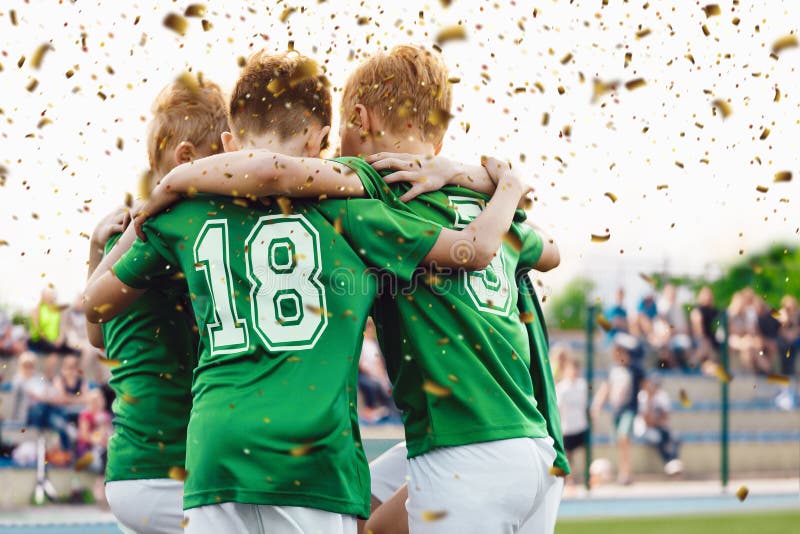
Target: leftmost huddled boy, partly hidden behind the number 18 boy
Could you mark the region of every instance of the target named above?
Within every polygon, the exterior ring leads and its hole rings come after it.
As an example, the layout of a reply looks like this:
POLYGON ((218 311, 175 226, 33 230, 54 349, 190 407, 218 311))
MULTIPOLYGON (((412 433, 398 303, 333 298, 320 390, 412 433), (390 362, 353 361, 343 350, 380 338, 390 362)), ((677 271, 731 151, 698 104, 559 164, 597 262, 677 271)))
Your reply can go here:
MULTIPOLYGON (((166 86, 153 104, 147 133, 152 178, 219 152, 226 127, 225 99, 215 84, 166 86)), ((90 275, 119 240, 127 219, 127 210, 119 209, 98 224, 90 275)), ((105 347, 114 363, 106 496, 119 522, 140 533, 183 532, 181 473, 197 351, 193 321, 183 309, 188 303, 181 304, 185 293, 185 282, 165 277, 102 329, 87 323, 90 341, 105 347)))

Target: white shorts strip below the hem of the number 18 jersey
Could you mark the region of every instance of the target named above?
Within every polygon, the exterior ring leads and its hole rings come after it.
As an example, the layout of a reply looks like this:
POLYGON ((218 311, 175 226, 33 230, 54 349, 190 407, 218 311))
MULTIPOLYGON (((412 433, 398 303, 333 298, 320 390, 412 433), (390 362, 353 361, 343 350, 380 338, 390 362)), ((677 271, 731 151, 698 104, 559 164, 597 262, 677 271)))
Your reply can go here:
POLYGON ((299 506, 226 502, 186 510, 186 534, 356 534, 356 517, 299 506))

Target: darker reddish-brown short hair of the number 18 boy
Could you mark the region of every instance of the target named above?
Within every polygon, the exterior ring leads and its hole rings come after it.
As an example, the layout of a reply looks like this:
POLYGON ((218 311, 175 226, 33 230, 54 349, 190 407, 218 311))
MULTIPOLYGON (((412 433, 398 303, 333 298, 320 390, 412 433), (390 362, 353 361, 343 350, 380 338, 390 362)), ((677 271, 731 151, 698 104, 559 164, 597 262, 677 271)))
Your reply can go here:
MULTIPOLYGON (((245 63, 231 94, 228 117, 240 139, 277 133, 289 139, 312 121, 331 124, 331 92, 317 63, 294 50, 256 52, 245 63)), ((322 148, 327 146, 327 136, 322 148)))

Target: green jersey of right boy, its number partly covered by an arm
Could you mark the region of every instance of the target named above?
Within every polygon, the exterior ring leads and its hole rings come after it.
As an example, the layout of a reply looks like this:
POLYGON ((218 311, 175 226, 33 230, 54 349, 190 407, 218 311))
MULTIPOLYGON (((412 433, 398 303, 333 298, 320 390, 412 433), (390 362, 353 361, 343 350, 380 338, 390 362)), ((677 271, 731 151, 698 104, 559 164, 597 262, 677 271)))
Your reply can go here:
MULTIPOLYGON (((381 188, 362 160, 338 161, 381 188)), ((404 187, 391 190, 399 194, 404 187)), ((407 208, 458 229, 480 214, 486 198, 447 187, 407 208)), ((548 435, 534 397, 515 276, 538 261, 542 246, 535 231, 515 223, 486 269, 418 276, 379 298, 374 316, 409 457, 435 447, 548 435)))

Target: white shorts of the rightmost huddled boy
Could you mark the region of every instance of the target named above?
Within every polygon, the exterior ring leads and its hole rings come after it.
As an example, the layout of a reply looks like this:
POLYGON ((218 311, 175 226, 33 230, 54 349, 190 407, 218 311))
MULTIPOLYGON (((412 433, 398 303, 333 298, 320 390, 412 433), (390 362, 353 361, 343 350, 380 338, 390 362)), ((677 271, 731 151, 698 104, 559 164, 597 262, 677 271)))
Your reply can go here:
POLYGON ((561 483, 550 474, 555 457, 551 438, 515 438, 411 458, 410 534, 545 532, 557 513, 542 510, 546 496, 560 497, 561 483))

